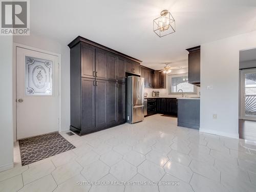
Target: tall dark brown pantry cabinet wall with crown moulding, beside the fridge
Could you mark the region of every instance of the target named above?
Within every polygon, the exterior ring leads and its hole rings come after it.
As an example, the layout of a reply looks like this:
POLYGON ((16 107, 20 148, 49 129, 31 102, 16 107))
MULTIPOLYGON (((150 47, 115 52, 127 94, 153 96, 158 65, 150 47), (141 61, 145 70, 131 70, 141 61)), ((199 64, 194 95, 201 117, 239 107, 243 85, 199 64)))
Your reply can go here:
POLYGON ((80 36, 68 46, 70 130, 83 135, 125 123, 126 65, 139 74, 141 61, 80 36))

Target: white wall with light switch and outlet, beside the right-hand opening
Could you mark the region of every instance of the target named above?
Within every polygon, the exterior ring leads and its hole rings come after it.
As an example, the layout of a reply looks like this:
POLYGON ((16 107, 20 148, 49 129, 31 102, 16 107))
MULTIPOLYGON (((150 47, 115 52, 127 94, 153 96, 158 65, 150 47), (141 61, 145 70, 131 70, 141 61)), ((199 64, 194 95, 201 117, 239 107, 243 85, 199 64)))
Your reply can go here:
POLYGON ((255 37, 253 31, 201 45, 200 131, 238 138, 239 51, 255 48, 255 37))

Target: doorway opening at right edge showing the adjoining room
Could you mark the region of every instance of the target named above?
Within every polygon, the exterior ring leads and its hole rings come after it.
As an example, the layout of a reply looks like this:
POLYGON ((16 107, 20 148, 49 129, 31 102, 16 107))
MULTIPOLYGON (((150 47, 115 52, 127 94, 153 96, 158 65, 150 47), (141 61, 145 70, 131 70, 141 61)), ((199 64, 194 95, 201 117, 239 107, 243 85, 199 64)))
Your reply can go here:
POLYGON ((256 141, 256 49, 240 51, 239 138, 256 141))

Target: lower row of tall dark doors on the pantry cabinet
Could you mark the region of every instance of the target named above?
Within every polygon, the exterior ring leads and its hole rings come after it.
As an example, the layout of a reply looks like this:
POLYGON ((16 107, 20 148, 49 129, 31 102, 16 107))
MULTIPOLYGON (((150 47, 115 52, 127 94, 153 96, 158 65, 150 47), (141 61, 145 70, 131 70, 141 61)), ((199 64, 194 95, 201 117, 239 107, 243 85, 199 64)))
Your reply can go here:
MULTIPOLYGON (((79 135, 125 123, 125 83, 81 78, 81 128, 79 135)), ((79 114, 77 114, 79 116, 79 114)))

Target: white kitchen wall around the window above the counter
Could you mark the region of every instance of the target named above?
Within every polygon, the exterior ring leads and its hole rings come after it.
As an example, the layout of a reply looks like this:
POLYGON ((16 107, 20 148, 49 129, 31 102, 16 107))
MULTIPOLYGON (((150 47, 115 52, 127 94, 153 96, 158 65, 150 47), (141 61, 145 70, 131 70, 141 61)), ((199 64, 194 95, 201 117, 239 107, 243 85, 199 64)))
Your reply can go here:
MULTIPOLYGON (((166 74, 166 89, 148 89, 145 88, 145 92, 147 93, 147 97, 152 97, 152 91, 159 91, 160 93, 160 97, 170 97, 170 98, 177 98, 177 97, 181 97, 181 93, 180 94, 168 94, 168 75, 174 75, 174 74, 183 74, 183 73, 187 73, 188 72, 188 68, 183 68, 183 69, 175 69, 172 70, 172 72, 170 72, 169 74, 166 74)), ((197 91, 197 95, 196 94, 186 94, 187 97, 198 97, 200 96, 200 88, 198 88, 197 91)))

